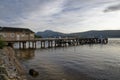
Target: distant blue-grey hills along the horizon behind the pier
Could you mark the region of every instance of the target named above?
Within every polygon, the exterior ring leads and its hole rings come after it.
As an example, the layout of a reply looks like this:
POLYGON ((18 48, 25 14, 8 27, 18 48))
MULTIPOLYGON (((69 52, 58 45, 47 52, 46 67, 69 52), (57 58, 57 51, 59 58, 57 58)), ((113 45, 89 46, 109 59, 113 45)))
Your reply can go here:
POLYGON ((108 38, 120 38, 120 30, 101 30, 101 31, 86 31, 86 32, 78 32, 78 33, 70 33, 70 34, 64 34, 60 32, 55 32, 51 30, 46 30, 44 32, 37 32, 36 35, 42 36, 44 38, 55 38, 55 37, 108 37, 108 38))

